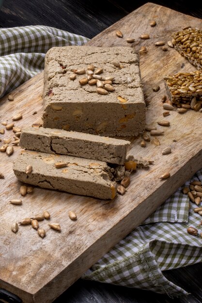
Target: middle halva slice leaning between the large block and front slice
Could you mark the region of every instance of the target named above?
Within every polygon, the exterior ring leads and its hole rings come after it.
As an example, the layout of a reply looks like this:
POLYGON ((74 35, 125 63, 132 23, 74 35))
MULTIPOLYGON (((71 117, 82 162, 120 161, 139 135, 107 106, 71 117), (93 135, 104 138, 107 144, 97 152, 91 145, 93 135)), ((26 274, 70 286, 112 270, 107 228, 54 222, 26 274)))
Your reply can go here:
POLYGON ((124 164, 129 141, 43 127, 22 130, 19 146, 38 152, 59 153, 124 164))

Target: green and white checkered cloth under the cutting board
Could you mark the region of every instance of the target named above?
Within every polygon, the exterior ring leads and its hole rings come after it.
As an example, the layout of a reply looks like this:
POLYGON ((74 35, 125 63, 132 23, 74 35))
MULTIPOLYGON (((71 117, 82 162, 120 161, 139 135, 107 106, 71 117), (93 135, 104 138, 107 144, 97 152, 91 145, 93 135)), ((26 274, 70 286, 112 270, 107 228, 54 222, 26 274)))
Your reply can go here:
MULTIPOLYGON (((0 96, 41 72, 52 46, 83 45, 87 38, 46 26, 0 29, 0 96)), ((202 170, 192 178, 202 181, 202 170)), ((190 181, 189 181, 190 182, 190 181)), ((186 183, 186 185, 189 184, 186 183)), ((202 239, 186 232, 202 232, 200 215, 189 210, 179 188, 145 222, 92 266, 83 278, 142 288, 172 296, 186 291, 166 279, 163 271, 201 262, 202 239)))

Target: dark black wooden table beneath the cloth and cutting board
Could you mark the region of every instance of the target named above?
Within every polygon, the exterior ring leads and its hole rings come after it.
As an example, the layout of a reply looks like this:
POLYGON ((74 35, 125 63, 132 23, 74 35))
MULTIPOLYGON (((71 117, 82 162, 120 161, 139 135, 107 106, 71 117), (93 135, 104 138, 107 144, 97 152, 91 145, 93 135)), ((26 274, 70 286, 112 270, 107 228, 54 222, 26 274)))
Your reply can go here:
MULTIPOLYGON (((143 0, 4 0, 0 10, 0 27, 47 25, 93 38, 146 2, 143 0)), ((202 18, 202 5, 195 1, 153 2, 202 18)), ((171 298, 146 290, 79 279, 55 300, 55 303, 202 302, 202 263, 166 271, 164 274, 169 280, 186 289, 190 295, 171 298)))

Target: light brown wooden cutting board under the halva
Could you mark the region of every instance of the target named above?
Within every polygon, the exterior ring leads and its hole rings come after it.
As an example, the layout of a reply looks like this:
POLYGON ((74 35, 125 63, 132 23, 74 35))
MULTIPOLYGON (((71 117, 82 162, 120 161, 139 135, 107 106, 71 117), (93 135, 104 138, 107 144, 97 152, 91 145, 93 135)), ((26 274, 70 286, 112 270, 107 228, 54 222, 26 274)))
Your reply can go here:
MULTIPOLYGON (((147 124, 156 125, 156 121, 165 119, 161 103, 161 96, 165 94, 163 76, 195 70, 174 49, 163 51, 154 46, 159 40, 170 40, 172 31, 187 25, 202 28, 202 20, 147 3, 88 43, 93 46, 128 46, 126 38, 135 38, 131 47, 137 51, 142 45, 147 47, 148 52, 140 55, 145 100, 149 103, 147 124), (150 27, 153 19, 157 25, 150 27), (118 38, 116 30, 121 30, 124 37, 118 38), (150 34, 149 40, 139 39, 144 33, 150 34), (152 90, 155 85, 160 85, 160 91, 152 90)), ((9 102, 7 96, 2 98, 0 121, 10 122, 18 112, 23 113, 23 119, 16 121, 16 126, 39 121, 43 110, 42 89, 43 74, 39 74, 13 92, 15 101, 9 102), (37 114, 33 115, 34 111, 37 114)), ((5 179, 0 179, 1 288, 15 293, 26 303, 52 302, 202 167, 202 113, 189 110, 180 115, 172 111, 166 120, 171 122, 170 127, 158 126, 165 131, 164 136, 159 136, 160 146, 148 142, 146 148, 142 148, 140 138, 132 143, 131 154, 146 156, 155 162, 149 169, 134 173, 126 194, 113 201, 35 188, 33 194, 22 198, 22 206, 11 205, 11 198, 20 197, 21 184, 12 170, 12 162, 20 148, 15 147, 10 157, 0 153, 0 171, 5 175, 5 179), (167 146, 171 146, 171 154, 162 155, 167 146), (165 171, 170 171, 171 178, 159 180, 165 171), (47 230, 44 239, 31 226, 20 227, 16 234, 11 231, 13 222, 44 210, 50 212, 52 222, 61 224, 61 233, 50 230, 47 221, 40 222, 40 227, 47 230), (77 221, 69 219, 69 210, 77 213, 77 221)), ((1 138, 12 136, 12 131, 0 135, 1 138)))

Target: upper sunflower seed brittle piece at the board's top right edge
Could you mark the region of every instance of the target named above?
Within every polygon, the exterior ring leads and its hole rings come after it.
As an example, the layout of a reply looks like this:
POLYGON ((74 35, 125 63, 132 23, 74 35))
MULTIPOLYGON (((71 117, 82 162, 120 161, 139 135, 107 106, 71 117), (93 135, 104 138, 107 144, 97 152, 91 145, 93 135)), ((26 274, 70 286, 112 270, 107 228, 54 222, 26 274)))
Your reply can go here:
POLYGON ((188 28, 172 33, 174 48, 197 69, 202 69, 202 30, 188 28))

